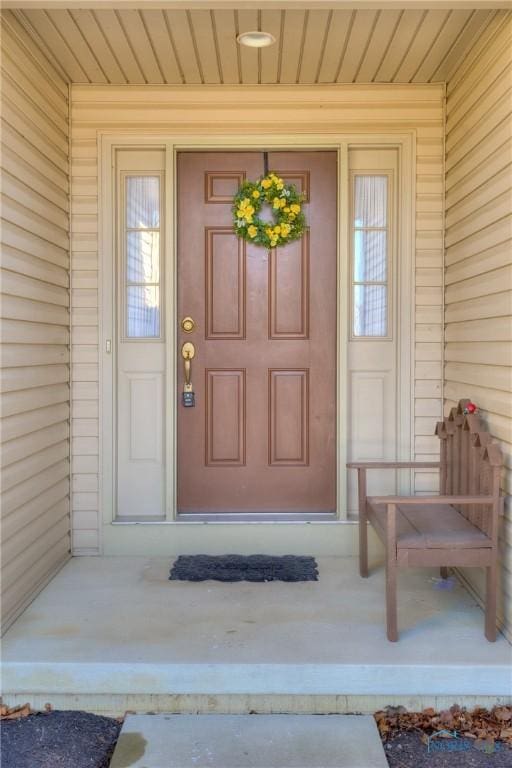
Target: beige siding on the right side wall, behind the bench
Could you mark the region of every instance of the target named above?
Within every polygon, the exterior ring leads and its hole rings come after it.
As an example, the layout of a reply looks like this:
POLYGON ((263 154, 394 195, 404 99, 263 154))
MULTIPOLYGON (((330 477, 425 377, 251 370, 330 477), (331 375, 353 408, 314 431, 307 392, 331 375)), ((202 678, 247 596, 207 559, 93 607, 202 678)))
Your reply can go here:
MULTIPOLYGON (((445 407, 481 408, 512 492, 512 16, 499 14, 448 83, 445 407)), ((512 506, 501 529, 500 619, 512 633, 512 506)), ((484 579, 468 570, 479 595, 484 579)))

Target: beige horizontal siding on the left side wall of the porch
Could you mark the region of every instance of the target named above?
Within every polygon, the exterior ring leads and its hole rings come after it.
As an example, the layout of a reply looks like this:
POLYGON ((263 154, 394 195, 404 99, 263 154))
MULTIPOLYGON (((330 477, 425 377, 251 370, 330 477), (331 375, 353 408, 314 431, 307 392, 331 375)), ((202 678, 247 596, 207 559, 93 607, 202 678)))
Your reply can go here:
POLYGON ((1 460, 5 629, 70 550, 68 88, 2 25, 1 460))

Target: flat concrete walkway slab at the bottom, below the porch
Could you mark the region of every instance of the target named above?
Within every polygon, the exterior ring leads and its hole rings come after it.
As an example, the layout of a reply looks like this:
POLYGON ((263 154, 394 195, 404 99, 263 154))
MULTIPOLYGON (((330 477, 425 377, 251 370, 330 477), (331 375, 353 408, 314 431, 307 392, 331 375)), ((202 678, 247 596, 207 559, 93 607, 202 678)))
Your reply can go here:
POLYGON ((367 715, 128 715, 110 768, 387 768, 367 715))

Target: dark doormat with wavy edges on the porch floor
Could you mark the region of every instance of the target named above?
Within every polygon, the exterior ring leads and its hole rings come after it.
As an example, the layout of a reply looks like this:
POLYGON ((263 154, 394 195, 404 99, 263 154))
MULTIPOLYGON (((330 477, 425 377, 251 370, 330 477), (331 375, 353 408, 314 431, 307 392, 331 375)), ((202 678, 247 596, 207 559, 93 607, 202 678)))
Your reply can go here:
POLYGON ((282 555, 180 555, 171 581, 318 581, 314 557, 282 555))

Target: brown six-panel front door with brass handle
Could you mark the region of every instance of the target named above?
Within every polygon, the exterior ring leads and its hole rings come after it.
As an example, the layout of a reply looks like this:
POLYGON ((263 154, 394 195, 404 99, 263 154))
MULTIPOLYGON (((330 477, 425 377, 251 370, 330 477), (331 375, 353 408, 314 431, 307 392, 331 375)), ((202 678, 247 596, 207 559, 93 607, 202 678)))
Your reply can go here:
POLYGON ((232 197, 263 174, 263 155, 178 157, 181 513, 336 506, 336 154, 272 152, 268 167, 307 193, 309 226, 270 254, 231 225, 232 197), (181 403, 185 341, 193 408, 181 403))

